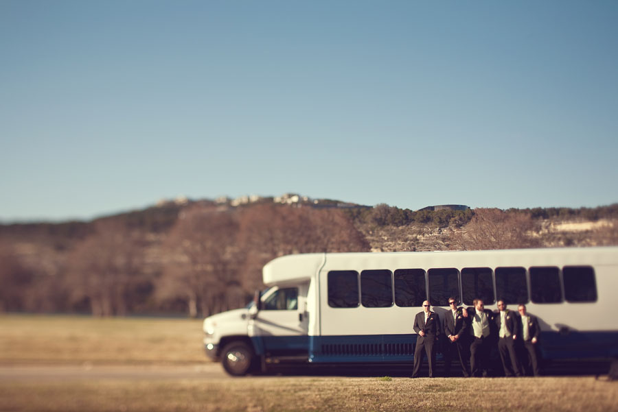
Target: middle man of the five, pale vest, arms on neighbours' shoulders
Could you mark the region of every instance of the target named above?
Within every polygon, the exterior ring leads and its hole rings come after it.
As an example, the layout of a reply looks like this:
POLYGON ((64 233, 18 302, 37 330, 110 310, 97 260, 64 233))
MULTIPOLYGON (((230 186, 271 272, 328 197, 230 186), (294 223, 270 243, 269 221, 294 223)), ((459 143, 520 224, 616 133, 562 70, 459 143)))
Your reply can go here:
POLYGON ((468 324, 472 335, 470 345, 470 373, 471 376, 487 376, 489 371, 490 354, 492 352, 492 324, 494 313, 485 309, 483 300, 474 299, 474 307, 467 308, 468 324))

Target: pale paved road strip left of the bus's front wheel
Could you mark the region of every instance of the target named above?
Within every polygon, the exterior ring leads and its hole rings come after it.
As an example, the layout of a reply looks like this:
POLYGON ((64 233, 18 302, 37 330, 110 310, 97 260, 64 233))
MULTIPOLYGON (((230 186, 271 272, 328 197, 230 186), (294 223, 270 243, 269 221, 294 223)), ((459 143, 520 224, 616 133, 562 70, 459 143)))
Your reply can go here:
POLYGON ((181 366, 140 365, 28 365, 0 366, 0 382, 5 380, 81 379, 229 379, 218 363, 181 366))

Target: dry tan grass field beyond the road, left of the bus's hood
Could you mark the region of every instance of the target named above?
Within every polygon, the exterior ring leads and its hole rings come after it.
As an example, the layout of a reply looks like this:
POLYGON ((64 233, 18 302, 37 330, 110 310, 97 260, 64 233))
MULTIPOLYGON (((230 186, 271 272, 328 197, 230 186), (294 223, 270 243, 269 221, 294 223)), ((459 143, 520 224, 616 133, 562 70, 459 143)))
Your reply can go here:
POLYGON ((0 365, 202 363, 200 319, 0 315, 0 365))

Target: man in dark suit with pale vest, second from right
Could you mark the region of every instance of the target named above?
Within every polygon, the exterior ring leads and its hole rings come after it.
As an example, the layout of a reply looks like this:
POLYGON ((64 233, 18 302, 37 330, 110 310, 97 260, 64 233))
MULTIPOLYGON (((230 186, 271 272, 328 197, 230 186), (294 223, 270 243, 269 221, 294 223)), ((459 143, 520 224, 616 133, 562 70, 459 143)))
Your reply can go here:
POLYGON ((513 311, 507 309, 503 300, 499 300, 495 321, 498 328, 498 352, 504 374, 507 377, 521 376, 517 352, 515 351, 518 317, 513 311))

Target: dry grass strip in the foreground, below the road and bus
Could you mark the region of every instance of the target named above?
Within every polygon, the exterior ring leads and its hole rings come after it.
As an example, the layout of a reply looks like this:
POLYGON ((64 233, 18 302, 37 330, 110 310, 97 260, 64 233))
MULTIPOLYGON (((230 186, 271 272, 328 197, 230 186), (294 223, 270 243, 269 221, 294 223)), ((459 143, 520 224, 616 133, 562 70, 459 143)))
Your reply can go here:
POLYGON ((594 378, 240 378, 0 383, 2 411, 564 411, 618 407, 594 378), (431 383, 431 385, 429 385, 431 383), (433 389, 428 390, 428 386, 433 389), (435 388, 444 389, 436 391, 435 388))

